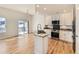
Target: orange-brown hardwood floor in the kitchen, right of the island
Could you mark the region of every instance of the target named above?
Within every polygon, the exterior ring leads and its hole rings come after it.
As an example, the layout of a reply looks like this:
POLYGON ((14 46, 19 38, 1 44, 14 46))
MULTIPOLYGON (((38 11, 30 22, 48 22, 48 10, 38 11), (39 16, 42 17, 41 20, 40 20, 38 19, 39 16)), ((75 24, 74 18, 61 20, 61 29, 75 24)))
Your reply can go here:
POLYGON ((73 54, 73 47, 71 43, 49 39, 48 46, 48 54, 73 54))

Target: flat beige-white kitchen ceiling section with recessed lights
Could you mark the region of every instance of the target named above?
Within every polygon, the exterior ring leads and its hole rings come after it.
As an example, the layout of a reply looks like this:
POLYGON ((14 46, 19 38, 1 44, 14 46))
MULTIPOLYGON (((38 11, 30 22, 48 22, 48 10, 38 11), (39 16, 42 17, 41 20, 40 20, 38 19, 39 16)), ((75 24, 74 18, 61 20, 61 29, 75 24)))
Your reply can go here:
POLYGON ((36 8, 38 12, 47 14, 70 12, 72 9, 72 4, 40 4, 39 7, 36 8), (44 10, 44 8, 46 8, 46 10, 44 10))

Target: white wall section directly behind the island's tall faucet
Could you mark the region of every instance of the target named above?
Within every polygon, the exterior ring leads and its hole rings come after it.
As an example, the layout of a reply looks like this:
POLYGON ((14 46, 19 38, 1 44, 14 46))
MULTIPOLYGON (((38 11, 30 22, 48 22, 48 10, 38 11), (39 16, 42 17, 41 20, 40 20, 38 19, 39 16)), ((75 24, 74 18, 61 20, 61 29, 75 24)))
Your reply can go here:
POLYGON ((37 32, 37 25, 41 24, 42 29, 44 28, 44 15, 36 13, 33 17, 33 32, 37 32))

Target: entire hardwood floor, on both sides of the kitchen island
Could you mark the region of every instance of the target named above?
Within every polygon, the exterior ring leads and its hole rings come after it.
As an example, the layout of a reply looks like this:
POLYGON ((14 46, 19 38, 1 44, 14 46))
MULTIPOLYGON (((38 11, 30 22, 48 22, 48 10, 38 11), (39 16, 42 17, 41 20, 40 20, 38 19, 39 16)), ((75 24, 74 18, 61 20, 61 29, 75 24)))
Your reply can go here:
MULTIPOLYGON (((0 40, 0 54, 33 54, 33 34, 0 40)), ((48 54, 72 54, 72 44, 49 38, 48 54)))

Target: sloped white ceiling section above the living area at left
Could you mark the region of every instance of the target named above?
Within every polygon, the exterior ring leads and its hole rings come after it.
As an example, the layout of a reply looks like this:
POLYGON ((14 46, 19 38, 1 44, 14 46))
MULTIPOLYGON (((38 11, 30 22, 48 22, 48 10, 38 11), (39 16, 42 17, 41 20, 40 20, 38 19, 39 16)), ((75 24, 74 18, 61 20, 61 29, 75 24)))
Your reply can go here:
POLYGON ((16 10, 23 13, 35 13, 35 5, 33 4, 0 4, 0 7, 16 10))

